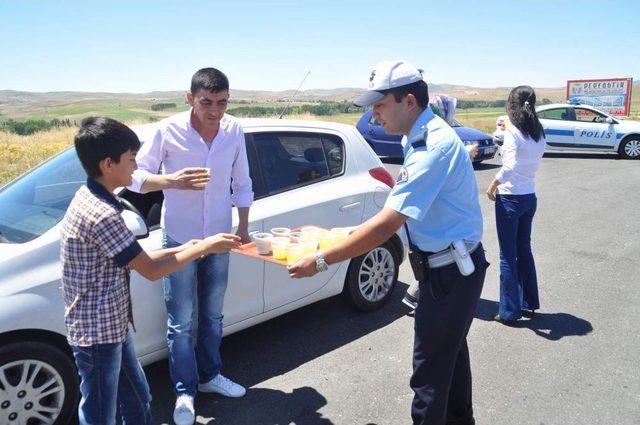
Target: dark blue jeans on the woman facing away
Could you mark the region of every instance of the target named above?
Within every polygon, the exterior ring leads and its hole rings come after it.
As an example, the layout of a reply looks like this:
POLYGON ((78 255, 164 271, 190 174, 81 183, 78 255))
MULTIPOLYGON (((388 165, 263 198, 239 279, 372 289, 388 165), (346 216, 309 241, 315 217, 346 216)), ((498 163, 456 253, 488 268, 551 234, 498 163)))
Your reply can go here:
POLYGON ((536 264, 531 253, 535 193, 496 195, 496 227, 500 243, 500 307, 505 320, 522 317, 523 309, 540 308, 536 264))

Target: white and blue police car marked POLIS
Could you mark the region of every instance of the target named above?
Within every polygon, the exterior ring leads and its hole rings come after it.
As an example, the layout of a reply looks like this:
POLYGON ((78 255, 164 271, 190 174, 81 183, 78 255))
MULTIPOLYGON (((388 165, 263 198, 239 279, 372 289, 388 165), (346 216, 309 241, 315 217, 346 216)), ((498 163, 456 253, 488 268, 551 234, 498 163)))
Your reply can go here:
POLYGON ((640 122, 613 117, 589 105, 550 104, 536 109, 548 150, 618 152, 640 158, 640 122))

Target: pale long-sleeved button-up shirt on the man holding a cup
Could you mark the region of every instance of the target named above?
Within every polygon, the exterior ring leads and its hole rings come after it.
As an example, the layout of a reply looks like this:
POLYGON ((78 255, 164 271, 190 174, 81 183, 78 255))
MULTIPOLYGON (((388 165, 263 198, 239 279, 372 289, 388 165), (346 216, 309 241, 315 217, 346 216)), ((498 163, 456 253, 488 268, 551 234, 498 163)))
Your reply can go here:
POLYGON ((179 243, 231 231, 231 209, 249 207, 253 189, 240 123, 225 114, 209 148, 191 124, 191 110, 158 123, 152 140, 140 147, 138 169, 129 189, 140 192, 150 174, 171 174, 186 167, 207 167, 211 180, 203 190, 164 190, 161 226, 179 243), (231 193, 233 191, 233 193, 231 193))

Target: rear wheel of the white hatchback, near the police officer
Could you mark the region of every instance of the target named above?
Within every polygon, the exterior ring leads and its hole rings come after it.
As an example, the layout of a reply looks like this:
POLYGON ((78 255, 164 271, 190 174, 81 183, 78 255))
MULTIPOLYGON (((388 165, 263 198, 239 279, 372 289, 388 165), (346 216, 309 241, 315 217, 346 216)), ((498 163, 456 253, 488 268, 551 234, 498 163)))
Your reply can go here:
POLYGON ((398 254, 391 242, 351 260, 343 295, 360 311, 372 311, 387 302, 398 282, 398 254))

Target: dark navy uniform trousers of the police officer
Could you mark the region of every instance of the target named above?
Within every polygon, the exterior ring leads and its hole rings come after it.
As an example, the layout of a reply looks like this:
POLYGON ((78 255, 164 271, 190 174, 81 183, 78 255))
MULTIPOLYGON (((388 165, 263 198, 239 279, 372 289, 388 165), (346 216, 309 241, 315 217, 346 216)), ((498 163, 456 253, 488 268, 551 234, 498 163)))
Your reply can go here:
POLYGON ((482 245, 471 258, 475 271, 469 276, 453 263, 429 270, 429 279, 420 282, 410 383, 416 425, 475 424, 467 333, 489 264, 482 245))

